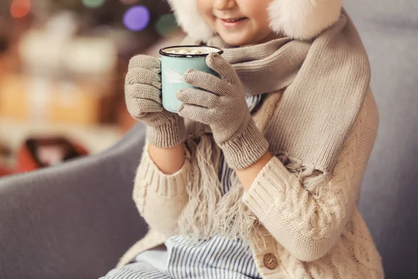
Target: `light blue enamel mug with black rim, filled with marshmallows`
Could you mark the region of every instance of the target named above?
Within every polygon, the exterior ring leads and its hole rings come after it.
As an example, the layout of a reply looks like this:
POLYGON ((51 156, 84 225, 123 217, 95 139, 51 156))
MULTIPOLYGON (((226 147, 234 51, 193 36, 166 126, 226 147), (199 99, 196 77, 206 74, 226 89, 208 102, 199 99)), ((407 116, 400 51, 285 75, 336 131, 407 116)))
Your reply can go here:
POLYGON ((206 56, 210 52, 224 53, 219 47, 210 47, 208 45, 181 45, 163 47, 160 50, 161 54, 161 84, 162 84, 162 106, 169 112, 177 113, 181 102, 177 98, 177 91, 181 88, 192 88, 193 86, 185 82, 183 75, 189 69, 201 70, 202 72, 217 75, 206 65, 206 56), (178 52, 186 50, 192 52, 199 50, 201 54, 178 54, 171 52, 178 52))

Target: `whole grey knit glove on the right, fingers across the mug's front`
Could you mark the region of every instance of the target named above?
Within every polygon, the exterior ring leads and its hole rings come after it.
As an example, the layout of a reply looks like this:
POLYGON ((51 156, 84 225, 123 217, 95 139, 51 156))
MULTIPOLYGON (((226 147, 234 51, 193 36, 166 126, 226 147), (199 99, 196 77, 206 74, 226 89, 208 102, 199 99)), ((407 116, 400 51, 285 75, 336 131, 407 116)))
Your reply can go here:
POLYGON ((256 163, 268 149, 268 142, 256 128, 242 90, 240 79, 228 61, 212 52, 208 66, 219 77, 188 70, 185 81, 199 89, 180 89, 183 102, 178 114, 212 128, 215 142, 224 151, 230 167, 242 169, 256 163))

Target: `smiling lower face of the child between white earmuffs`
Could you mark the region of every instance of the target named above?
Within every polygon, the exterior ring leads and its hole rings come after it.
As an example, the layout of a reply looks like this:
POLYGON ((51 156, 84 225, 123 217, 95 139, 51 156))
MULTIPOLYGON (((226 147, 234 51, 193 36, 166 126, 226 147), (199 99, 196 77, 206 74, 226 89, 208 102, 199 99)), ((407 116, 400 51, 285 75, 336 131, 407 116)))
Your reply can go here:
POLYGON ((229 45, 255 45, 277 37, 269 27, 272 0, 196 1, 205 21, 229 45))

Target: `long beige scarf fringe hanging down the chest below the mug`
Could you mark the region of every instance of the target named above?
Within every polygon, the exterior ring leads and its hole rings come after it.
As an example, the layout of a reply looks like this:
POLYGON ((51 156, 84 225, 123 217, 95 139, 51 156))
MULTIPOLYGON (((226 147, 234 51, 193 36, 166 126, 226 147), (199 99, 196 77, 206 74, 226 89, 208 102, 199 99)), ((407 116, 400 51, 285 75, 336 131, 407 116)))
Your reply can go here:
POLYGON ((231 174, 230 190, 222 195, 218 173, 221 149, 208 134, 199 136, 199 140, 187 140, 192 165, 197 167, 189 172, 189 202, 178 219, 180 234, 193 243, 217 235, 246 243, 250 238, 262 239, 256 216, 241 201, 245 190, 235 172, 231 174))

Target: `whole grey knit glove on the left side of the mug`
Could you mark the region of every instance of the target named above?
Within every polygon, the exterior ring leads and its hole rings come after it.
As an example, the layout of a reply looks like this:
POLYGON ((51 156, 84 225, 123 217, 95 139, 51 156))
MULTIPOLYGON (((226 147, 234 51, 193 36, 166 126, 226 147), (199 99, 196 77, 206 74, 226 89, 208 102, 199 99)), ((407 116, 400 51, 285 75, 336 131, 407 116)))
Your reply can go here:
POLYGON ((162 107, 158 59, 141 54, 130 59, 125 79, 125 101, 132 117, 148 126, 150 143, 170 147, 185 141, 184 119, 162 107))

